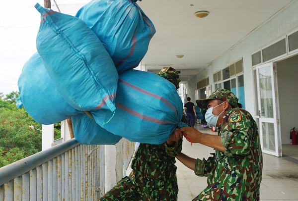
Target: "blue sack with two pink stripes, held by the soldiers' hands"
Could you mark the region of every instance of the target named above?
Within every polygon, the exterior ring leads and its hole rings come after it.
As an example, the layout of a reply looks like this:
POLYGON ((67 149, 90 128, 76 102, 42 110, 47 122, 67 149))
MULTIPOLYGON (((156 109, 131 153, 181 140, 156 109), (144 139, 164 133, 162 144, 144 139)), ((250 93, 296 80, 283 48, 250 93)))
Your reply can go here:
POLYGON ((95 121, 107 131, 149 144, 165 142, 179 125, 182 112, 175 85, 139 70, 128 70, 119 76, 114 116, 108 110, 91 111, 95 121))

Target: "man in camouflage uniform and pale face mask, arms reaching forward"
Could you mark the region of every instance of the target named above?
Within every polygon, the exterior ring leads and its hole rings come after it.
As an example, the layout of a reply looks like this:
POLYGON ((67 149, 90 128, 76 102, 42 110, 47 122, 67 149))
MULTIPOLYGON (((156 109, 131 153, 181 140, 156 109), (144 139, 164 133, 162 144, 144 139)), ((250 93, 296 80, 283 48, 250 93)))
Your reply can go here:
POLYGON ((259 201, 263 158, 253 117, 224 89, 217 89, 209 99, 197 100, 197 105, 208 108, 206 121, 219 130, 216 136, 190 127, 180 129, 193 143, 215 149, 207 160, 183 153, 177 156, 196 175, 208 177, 208 186, 193 201, 259 201))

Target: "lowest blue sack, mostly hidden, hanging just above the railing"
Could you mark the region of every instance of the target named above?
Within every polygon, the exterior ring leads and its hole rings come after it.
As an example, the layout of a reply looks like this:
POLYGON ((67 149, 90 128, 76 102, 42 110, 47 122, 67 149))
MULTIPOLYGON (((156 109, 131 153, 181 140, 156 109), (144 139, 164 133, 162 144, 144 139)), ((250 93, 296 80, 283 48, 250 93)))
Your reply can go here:
POLYGON ((84 145, 115 145, 122 138, 101 128, 87 114, 72 116, 72 123, 75 140, 84 145))

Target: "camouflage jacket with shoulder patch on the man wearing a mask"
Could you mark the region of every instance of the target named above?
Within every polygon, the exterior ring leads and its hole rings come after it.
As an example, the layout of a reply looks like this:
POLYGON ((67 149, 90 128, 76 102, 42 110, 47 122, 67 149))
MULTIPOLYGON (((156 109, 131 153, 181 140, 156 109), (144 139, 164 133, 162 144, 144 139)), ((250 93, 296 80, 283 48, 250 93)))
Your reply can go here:
POLYGON ((195 174, 208 176, 208 187, 198 200, 259 200, 263 157, 257 124, 251 114, 240 108, 229 109, 218 135, 225 151, 216 150, 207 160, 196 161, 195 174))

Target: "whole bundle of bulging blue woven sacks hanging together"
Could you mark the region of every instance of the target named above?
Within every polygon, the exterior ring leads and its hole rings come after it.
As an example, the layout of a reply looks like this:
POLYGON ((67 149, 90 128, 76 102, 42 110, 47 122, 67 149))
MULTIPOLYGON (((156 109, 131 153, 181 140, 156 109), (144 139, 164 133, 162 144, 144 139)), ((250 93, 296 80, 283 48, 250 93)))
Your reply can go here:
POLYGON ((76 17, 37 3, 38 53, 20 75, 17 106, 43 124, 72 116, 82 144, 166 141, 182 118, 182 101, 166 79, 131 70, 155 33, 135 1, 93 0, 76 17))

